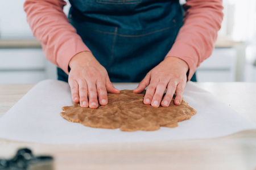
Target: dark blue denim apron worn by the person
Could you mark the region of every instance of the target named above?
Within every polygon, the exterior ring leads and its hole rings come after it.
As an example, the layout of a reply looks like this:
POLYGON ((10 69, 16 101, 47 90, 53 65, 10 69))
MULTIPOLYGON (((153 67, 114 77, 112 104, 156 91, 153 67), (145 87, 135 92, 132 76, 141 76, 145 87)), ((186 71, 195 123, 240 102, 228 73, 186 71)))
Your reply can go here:
MULTIPOLYGON (((183 20, 179 0, 69 2, 69 23, 112 82, 140 82, 166 57, 183 20)), ((57 73, 68 81, 63 70, 57 73)))

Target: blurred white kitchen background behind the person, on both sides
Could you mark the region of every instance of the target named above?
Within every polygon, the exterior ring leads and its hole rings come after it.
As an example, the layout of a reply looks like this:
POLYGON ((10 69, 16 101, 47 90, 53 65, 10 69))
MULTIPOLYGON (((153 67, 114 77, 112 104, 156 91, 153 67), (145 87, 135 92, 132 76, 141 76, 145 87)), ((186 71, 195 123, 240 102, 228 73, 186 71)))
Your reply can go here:
MULTIPOLYGON (((0 83, 56 79, 56 66, 44 57, 26 22, 24 0, 0 3, 0 83)), ((197 80, 256 82, 256 1, 223 0, 223 5, 224 20, 215 49, 197 69, 197 80)), ((65 14, 69 7, 65 6, 65 14)))

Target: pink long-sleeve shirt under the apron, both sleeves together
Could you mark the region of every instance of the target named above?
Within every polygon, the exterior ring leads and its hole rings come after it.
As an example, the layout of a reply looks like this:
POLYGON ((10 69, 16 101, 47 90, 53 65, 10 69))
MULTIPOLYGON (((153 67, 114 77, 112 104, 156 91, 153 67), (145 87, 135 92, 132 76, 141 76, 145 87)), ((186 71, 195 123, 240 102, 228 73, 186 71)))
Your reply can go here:
MULTIPOLYGON (((63 12, 63 0, 26 0, 24 10, 32 32, 49 61, 68 74, 75 54, 90 51, 63 12)), ((222 0, 187 0, 183 26, 167 56, 177 57, 189 66, 188 80, 213 51, 223 19, 222 0)))

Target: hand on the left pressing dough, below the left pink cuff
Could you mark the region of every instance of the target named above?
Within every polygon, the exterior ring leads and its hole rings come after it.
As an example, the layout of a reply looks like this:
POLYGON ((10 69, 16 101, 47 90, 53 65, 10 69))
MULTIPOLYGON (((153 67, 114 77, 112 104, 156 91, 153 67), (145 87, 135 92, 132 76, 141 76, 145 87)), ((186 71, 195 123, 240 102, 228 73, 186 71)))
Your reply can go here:
POLYGON ((69 61, 71 68, 68 83, 71 87, 72 99, 80 101, 81 107, 98 108, 108 104, 108 92, 118 94, 110 82, 106 69, 97 61, 91 52, 76 54, 69 61))

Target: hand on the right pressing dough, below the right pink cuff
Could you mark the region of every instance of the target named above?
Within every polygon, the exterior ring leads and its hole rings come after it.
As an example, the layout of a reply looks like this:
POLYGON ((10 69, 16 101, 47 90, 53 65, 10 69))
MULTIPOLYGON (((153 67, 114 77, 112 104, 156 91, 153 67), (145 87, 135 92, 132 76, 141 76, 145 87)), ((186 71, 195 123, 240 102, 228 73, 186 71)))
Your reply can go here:
POLYGON ((166 57, 145 76, 134 92, 142 92, 149 84, 144 96, 144 104, 151 104, 153 107, 159 107, 161 104, 163 107, 168 107, 176 92, 174 103, 180 105, 187 82, 187 71, 187 62, 176 57, 166 57), (166 88, 166 95, 162 100, 166 88))

